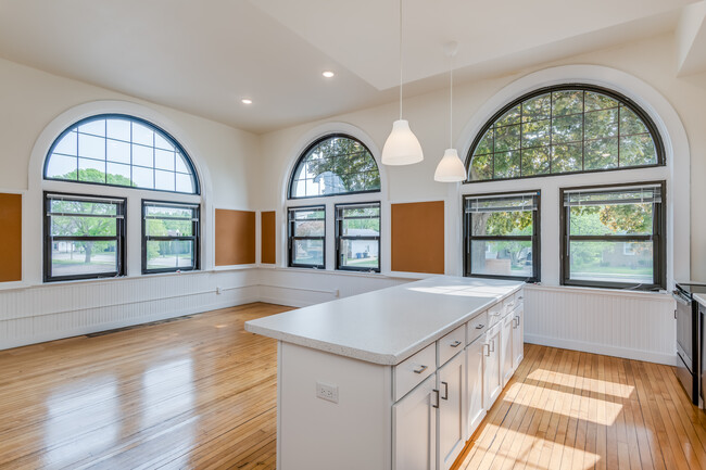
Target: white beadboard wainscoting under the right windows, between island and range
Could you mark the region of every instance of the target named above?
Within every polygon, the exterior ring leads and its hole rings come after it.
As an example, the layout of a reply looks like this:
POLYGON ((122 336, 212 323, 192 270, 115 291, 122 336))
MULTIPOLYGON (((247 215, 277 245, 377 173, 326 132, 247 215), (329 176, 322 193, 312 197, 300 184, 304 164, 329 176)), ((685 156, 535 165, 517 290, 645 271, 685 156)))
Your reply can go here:
POLYGON ((668 293, 528 285, 525 342, 673 366, 675 308, 668 293))

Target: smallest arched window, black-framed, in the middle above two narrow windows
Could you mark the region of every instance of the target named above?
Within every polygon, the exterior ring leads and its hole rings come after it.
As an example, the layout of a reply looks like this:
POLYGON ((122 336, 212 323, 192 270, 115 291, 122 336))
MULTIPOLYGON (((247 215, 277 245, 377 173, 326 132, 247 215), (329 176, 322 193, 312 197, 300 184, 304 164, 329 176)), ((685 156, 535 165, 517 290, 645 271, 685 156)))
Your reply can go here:
POLYGON ((292 173, 289 199, 379 192, 380 174, 370 151, 345 135, 312 143, 292 173))

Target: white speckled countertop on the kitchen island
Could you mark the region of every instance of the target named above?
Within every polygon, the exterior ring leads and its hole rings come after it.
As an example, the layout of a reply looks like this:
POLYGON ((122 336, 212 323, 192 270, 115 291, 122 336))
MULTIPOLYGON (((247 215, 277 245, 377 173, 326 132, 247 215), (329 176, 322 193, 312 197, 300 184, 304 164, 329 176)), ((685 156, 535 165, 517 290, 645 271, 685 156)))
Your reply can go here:
POLYGON ((439 276, 245 322, 245 330, 368 363, 396 365, 520 281, 439 276))

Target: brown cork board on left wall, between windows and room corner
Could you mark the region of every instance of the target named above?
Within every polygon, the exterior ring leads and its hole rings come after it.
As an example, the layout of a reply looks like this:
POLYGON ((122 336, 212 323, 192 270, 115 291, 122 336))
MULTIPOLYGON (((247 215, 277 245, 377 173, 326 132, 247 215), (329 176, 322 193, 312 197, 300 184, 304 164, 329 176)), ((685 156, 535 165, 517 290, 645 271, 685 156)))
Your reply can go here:
POLYGON ((216 266, 255 263, 255 213, 216 209, 216 266))

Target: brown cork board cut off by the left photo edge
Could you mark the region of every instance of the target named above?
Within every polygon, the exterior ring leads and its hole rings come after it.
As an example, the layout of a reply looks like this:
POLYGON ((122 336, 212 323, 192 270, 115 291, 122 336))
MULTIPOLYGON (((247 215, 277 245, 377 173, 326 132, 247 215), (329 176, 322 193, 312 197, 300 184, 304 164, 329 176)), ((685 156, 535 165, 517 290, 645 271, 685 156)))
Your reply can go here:
POLYGON ((0 282, 22 280, 22 194, 0 194, 0 282))

